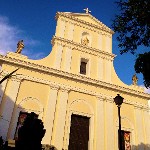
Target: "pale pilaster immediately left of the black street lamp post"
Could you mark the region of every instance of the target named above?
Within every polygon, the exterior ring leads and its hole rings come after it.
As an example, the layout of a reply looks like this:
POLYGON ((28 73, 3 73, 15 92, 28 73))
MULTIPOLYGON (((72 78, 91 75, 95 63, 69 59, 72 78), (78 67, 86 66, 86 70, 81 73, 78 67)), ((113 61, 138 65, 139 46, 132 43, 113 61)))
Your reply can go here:
POLYGON ((114 147, 114 113, 113 113, 113 99, 106 99, 105 102, 105 143, 107 150, 113 150, 114 147))

